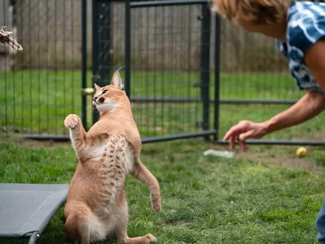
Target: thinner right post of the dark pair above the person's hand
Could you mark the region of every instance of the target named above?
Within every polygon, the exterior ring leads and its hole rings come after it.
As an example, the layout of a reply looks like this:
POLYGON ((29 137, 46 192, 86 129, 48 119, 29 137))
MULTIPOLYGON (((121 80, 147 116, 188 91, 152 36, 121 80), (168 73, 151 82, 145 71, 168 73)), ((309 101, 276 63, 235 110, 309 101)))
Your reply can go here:
POLYGON ((214 141, 219 135, 219 104, 220 104, 220 45, 221 45, 221 18, 215 14, 215 45, 214 45, 214 141))

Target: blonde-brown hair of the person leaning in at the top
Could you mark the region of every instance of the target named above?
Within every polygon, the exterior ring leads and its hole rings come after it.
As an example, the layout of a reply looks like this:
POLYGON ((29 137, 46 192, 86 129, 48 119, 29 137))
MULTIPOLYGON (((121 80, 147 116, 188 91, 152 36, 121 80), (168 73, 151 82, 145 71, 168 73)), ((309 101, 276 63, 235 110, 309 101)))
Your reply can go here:
POLYGON ((212 9, 237 23, 249 20, 255 24, 278 23, 287 16, 291 0, 213 0, 212 9))

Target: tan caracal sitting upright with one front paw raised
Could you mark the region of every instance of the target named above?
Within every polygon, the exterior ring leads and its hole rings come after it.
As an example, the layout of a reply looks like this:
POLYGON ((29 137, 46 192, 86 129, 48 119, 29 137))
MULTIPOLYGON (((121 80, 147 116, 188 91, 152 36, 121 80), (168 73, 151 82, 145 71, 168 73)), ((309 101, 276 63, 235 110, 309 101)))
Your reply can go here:
POLYGON ((125 176, 131 173, 149 187, 157 212, 161 211, 161 199, 157 180, 140 161, 141 139, 130 101, 121 90, 122 79, 117 71, 112 85, 95 87, 93 105, 100 112, 99 121, 88 132, 75 114, 64 121, 79 161, 64 208, 67 238, 81 244, 108 236, 126 243, 155 242, 151 234, 136 238, 127 235, 125 176))

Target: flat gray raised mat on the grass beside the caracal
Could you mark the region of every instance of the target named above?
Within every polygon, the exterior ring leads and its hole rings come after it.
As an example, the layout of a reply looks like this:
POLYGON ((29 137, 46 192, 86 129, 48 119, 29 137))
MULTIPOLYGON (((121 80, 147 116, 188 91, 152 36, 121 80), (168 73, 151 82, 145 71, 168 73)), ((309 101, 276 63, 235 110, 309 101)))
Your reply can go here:
POLYGON ((66 184, 0 184, 0 238, 42 233, 65 203, 66 184))

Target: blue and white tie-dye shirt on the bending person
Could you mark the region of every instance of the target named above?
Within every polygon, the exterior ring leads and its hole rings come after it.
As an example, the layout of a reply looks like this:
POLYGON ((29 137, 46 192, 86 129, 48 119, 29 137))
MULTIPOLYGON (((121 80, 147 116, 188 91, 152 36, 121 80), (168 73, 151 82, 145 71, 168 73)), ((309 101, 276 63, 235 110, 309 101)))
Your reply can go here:
POLYGON ((289 59, 290 71, 299 88, 325 95, 304 62, 307 48, 321 38, 325 38, 325 3, 292 2, 287 13, 287 40, 278 40, 278 46, 289 59))

